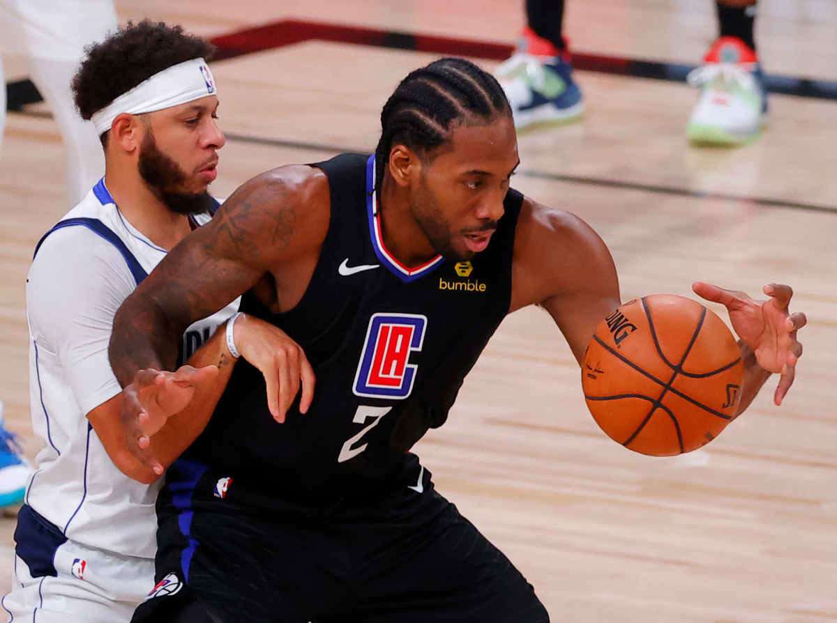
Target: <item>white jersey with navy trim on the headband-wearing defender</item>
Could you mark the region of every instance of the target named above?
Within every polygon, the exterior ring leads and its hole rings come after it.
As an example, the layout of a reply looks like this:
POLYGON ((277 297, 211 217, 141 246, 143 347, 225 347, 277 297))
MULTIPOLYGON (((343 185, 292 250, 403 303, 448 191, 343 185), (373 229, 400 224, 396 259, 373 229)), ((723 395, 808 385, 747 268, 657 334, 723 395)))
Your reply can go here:
MULTIPOLYGON (((152 559, 158 484, 120 472, 86 415, 121 391, 107 352, 113 318, 166 251, 122 217, 104 180, 56 227, 36 251, 26 287, 29 393, 42 449, 25 503, 75 543, 152 559)), ((193 324, 183 359, 238 305, 193 324)))

